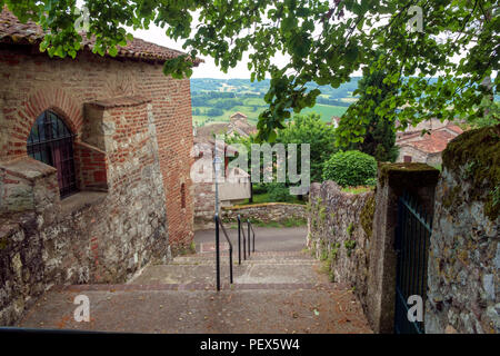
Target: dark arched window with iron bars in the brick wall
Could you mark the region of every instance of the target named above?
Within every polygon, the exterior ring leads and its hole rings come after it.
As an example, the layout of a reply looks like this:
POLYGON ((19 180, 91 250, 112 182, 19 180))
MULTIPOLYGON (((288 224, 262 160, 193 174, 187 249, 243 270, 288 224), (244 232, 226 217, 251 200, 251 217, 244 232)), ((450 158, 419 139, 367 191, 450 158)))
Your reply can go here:
POLYGON ((37 118, 28 137, 28 155, 58 170, 61 198, 77 191, 73 137, 57 113, 44 111, 37 118))

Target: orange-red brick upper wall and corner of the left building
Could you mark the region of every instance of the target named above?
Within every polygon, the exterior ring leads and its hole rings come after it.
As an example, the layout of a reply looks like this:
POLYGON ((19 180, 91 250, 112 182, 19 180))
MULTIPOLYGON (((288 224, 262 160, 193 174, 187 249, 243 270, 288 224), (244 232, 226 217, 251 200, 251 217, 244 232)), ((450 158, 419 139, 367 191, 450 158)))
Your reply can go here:
MULTIPOLYGON (((76 60, 50 59, 46 53, 33 55, 21 47, 0 47, 0 162, 26 157, 31 126, 47 109, 59 113, 79 135, 77 142, 81 142, 82 137, 89 136, 83 118, 91 109, 84 107, 86 102, 137 95, 150 100, 158 135, 169 237, 172 245, 189 245, 192 239, 189 80, 167 78, 161 65, 114 60, 88 52, 79 53, 76 60), (183 208, 182 184, 186 187, 183 208)), ((99 146, 102 142, 84 142, 102 150, 99 146)), ((97 159, 98 156, 96 154, 97 159)), ((101 184, 101 170, 93 175, 98 181, 91 181, 90 177, 82 179, 89 185, 101 184)))

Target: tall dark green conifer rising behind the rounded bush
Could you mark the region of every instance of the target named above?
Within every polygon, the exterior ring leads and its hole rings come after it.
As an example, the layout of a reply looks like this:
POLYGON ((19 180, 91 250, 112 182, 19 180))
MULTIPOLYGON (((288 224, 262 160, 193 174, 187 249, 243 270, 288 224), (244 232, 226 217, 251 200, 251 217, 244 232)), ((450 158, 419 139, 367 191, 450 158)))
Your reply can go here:
POLYGON ((368 68, 364 69, 363 78, 358 81, 360 98, 342 116, 338 138, 343 148, 360 150, 373 156, 378 161, 393 162, 398 158, 393 116, 364 110, 367 106, 379 107, 383 100, 397 93, 396 86, 384 81, 386 78, 387 75, 382 70, 370 72, 368 68), (372 90, 373 87, 379 90, 372 90), (359 132, 362 140, 346 141, 346 136, 342 136, 344 131, 359 132))

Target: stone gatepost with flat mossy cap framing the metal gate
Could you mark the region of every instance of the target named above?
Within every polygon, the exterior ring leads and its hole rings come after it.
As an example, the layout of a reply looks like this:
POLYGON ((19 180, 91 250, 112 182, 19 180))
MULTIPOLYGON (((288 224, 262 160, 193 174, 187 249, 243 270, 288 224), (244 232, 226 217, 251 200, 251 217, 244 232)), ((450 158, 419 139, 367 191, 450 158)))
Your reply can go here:
POLYGON ((432 215, 438 178, 439 170, 424 164, 379 165, 367 296, 367 316, 376 333, 393 332, 398 198, 406 190, 432 215))

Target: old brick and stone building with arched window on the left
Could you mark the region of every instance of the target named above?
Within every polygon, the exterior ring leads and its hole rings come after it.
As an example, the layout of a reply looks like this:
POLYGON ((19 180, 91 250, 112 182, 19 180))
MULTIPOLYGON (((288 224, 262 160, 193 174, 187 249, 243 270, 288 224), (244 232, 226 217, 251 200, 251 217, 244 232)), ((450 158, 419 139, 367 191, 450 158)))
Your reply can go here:
MULTIPOLYGON (((49 58, 0 14, 0 325, 54 284, 123 281, 192 240, 190 81, 181 52, 49 58)), ((197 60, 197 65, 199 60, 197 60)))

